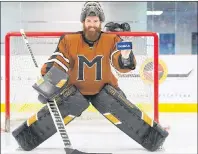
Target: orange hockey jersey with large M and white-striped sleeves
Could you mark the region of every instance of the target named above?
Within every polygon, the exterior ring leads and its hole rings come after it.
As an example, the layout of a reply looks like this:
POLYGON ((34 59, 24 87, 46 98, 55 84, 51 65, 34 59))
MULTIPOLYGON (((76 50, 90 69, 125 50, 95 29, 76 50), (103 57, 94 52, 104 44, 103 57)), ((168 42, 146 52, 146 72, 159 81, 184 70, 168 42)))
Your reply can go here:
POLYGON ((121 53, 116 51, 119 41, 121 39, 116 34, 101 33, 99 40, 90 48, 82 33, 63 35, 41 73, 44 75, 52 66, 66 71, 70 76, 69 84, 75 85, 83 95, 97 94, 106 83, 117 87, 111 65, 122 73, 131 71, 119 66, 121 53))

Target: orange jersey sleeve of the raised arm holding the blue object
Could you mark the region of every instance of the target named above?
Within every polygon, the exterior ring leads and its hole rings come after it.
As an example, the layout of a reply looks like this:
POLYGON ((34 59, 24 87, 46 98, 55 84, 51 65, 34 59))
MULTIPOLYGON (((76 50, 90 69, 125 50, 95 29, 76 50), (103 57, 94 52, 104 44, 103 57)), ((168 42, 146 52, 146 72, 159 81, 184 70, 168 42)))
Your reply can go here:
MULTIPOLYGON (((130 72, 133 69, 131 69, 131 67, 128 67, 128 68, 123 67, 122 64, 121 64, 122 63, 122 61, 121 61, 121 58, 122 58, 121 57, 121 51, 116 49, 116 44, 118 42, 121 42, 121 41, 122 41, 122 39, 118 35, 114 38, 114 43, 113 43, 110 59, 111 59, 111 63, 113 65, 113 67, 116 70, 118 70, 121 73, 127 73, 127 72, 130 72)), ((133 55, 133 60, 136 63, 134 55, 133 55)))

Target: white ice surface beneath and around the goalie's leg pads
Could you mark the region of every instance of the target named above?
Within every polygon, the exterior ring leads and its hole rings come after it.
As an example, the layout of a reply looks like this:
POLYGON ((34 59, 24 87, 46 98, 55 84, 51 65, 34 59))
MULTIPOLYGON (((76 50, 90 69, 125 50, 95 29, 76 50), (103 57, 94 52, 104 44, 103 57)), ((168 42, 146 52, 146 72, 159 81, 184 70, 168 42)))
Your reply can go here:
MULTIPOLYGON (((163 149, 154 153, 197 154, 197 114, 160 114, 163 125, 170 126, 163 149)), ((123 134, 106 119, 73 121, 67 127, 73 148, 83 152, 113 154, 151 153, 123 134)), ((65 154, 60 136, 56 133, 33 151, 17 150, 17 143, 9 133, 1 133, 2 154, 65 154)))

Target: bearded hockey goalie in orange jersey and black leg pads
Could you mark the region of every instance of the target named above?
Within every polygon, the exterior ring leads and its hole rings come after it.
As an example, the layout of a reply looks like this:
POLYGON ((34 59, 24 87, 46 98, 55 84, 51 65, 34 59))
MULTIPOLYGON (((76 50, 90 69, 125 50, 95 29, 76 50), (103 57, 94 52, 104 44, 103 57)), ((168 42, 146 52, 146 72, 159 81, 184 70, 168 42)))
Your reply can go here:
MULTIPOLYGON (((60 37, 55 52, 41 68, 43 78, 33 87, 41 103, 56 99, 65 125, 79 117, 91 102, 115 127, 145 149, 156 151, 168 132, 130 102, 119 88, 111 66, 126 73, 136 69, 136 59, 130 44, 119 50, 119 43, 124 43, 121 38, 101 31, 104 20, 100 4, 86 2, 80 17, 83 30, 60 37)), ((29 151, 56 131, 45 106, 12 134, 21 148, 29 151)))

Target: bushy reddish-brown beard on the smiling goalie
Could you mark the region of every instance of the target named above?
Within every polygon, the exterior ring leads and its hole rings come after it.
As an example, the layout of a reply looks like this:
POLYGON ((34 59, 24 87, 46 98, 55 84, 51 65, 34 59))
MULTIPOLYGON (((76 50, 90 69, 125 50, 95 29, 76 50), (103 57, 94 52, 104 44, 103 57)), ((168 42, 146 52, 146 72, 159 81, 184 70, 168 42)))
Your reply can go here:
POLYGON ((101 33, 101 24, 99 25, 99 27, 86 27, 83 23, 83 32, 85 34, 86 39, 88 39, 89 41, 96 41, 101 33))

